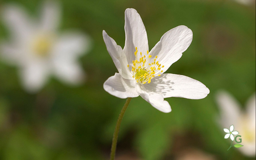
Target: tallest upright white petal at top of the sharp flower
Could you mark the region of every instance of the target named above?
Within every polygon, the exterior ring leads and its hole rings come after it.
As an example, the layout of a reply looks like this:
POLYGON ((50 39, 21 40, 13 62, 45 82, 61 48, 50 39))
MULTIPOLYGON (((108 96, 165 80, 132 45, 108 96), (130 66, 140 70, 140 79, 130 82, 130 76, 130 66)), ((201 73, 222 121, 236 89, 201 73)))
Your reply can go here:
POLYGON ((124 52, 129 64, 135 60, 134 52, 147 54, 148 37, 143 21, 135 9, 125 10, 125 47, 124 52))

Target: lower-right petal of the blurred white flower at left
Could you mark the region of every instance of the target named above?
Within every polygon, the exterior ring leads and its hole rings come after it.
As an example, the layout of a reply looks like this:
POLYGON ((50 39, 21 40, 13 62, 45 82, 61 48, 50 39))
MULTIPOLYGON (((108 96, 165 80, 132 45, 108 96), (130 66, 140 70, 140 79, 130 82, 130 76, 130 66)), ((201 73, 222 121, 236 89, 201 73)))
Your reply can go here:
POLYGON ((68 84, 78 85, 85 79, 85 74, 81 66, 75 61, 55 61, 55 75, 68 84))

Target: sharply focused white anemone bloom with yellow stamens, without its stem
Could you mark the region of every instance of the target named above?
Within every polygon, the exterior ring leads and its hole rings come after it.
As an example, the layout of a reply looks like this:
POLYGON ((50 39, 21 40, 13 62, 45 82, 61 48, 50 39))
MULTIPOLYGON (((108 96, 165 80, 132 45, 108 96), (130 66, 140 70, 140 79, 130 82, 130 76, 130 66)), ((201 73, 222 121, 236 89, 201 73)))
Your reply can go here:
POLYGON ((171 107, 164 98, 203 99, 209 89, 200 81, 164 72, 192 42, 192 31, 177 26, 166 32, 148 52, 145 26, 135 9, 125 10, 125 47, 122 49, 103 30, 103 38, 119 73, 104 83, 104 89, 119 98, 141 96, 159 111, 168 113, 171 107))

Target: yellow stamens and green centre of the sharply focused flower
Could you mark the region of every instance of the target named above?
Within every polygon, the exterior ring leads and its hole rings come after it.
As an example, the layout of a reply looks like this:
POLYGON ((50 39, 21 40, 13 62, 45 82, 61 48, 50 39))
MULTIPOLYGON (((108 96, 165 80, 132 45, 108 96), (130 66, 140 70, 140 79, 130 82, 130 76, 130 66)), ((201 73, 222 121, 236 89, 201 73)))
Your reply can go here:
MULTIPOLYGON (((158 63, 156 61, 157 56, 154 58, 154 61, 152 63, 148 63, 149 59, 152 57, 152 55, 142 55, 142 52, 140 54, 138 53, 137 47, 135 47, 136 51, 134 52, 135 55, 135 60, 132 61, 133 66, 132 66, 132 74, 133 78, 137 81, 137 83, 140 84, 145 84, 145 83, 150 83, 151 79, 154 78, 155 76, 161 76, 164 66, 158 63), (146 63, 147 62, 147 63, 146 63)), ((129 64, 128 66, 129 67, 129 64)))

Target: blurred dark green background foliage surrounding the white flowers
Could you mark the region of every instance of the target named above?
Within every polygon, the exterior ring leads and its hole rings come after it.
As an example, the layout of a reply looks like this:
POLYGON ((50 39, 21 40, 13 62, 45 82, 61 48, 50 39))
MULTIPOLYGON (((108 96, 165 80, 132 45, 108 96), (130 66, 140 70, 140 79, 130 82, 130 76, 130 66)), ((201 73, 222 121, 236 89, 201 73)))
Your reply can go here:
MULTIPOLYGON (((35 16, 41 5, 40 0, 1 0, 0 6, 10 2, 35 16)), ((109 158, 125 99, 103 89, 117 70, 102 30, 123 47, 126 8, 137 9, 142 17, 149 49, 169 29, 192 29, 192 44, 166 73, 197 79, 210 93, 200 100, 165 99, 171 113, 133 98, 122 121, 116 160, 176 160, 190 150, 215 160, 255 160, 236 148, 227 151, 230 141, 217 123, 215 100, 216 91, 223 89, 244 106, 255 92, 255 1, 245 6, 233 0, 61 0, 61 5, 60 31, 78 29, 93 40, 90 52, 79 59, 87 80, 70 87, 52 78, 41 91, 30 94, 20 85, 17 67, 0 61, 0 160, 109 158)), ((0 23, 0 39, 8 36, 0 23)))

